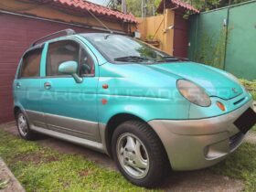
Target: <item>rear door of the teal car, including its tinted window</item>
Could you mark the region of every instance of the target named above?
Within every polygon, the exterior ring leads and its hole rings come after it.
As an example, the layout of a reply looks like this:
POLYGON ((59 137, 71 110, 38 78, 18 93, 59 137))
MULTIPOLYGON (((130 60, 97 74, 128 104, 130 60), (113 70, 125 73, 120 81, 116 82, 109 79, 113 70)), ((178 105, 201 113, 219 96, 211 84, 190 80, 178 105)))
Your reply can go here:
POLYGON ((14 81, 16 105, 27 113, 31 125, 39 127, 45 127, 43 113, 40 108, 42 51, 43 46, 39 46, 25 53, 14 81))

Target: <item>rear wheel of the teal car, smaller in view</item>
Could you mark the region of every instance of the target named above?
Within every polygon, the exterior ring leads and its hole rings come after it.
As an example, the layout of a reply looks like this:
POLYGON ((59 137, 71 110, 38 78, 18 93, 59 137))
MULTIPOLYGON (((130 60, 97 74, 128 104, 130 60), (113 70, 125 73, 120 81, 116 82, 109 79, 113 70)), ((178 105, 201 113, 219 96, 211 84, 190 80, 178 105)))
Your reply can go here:
POLYGON ((16 125, 19 135, 25 140, 35 140, 37 138, 37 133, 30 130, 29 123, 27 121, 27 116, 24 112, 16 112, 16 125))

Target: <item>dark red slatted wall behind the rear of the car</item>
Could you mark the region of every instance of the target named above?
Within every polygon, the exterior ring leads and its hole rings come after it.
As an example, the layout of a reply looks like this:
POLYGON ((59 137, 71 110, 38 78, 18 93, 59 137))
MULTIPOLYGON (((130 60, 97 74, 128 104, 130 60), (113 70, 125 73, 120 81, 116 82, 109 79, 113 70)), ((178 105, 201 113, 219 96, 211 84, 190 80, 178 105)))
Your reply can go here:
POLYGON ((22 16, 0 15, 0 123, 14 119, 12 82, 23 52, 39 37, 65 28, 77 32, 95 30, 42 21, 22 16))

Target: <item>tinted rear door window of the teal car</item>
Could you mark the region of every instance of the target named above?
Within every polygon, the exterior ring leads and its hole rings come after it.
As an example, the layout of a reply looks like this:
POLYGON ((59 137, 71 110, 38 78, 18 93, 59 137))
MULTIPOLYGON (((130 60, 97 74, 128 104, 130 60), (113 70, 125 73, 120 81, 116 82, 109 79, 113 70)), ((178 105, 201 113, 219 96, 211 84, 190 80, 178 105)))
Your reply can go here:
POLYGON ((34 78, 40 76, 42 48, 31 50, 22 59, 20 77, 34 78))

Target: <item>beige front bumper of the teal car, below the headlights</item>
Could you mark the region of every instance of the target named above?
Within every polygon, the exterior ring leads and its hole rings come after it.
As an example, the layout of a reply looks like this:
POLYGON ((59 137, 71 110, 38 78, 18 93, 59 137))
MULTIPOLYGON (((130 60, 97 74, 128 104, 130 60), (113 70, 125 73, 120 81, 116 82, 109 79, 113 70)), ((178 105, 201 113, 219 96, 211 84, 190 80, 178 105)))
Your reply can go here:
POLYGON ((244 134, 233 123, 249 107, 252 101, 208 119, 148 123, 164 144, 173 170, 195 170, 217 164, 240 146, 244 134))

